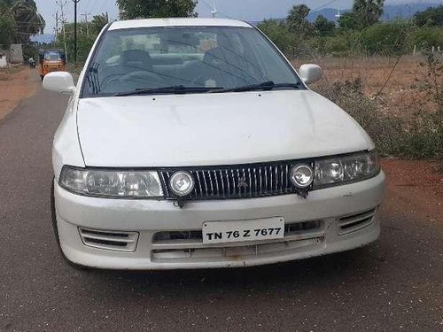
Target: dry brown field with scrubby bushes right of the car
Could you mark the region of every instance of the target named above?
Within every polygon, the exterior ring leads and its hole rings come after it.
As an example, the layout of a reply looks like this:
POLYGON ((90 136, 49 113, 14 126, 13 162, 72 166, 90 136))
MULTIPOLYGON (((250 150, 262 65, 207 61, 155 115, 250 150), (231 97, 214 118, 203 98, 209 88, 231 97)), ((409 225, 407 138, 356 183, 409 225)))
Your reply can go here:
MULTIPOLYGON (((316 58, 313 86, 372 137, 383 156, 443 161, 443 58, 316 58)), ((296 65, 296 64, 294 64, 296 65)), ((299 65, 299 64, 298 64, 299 65)))

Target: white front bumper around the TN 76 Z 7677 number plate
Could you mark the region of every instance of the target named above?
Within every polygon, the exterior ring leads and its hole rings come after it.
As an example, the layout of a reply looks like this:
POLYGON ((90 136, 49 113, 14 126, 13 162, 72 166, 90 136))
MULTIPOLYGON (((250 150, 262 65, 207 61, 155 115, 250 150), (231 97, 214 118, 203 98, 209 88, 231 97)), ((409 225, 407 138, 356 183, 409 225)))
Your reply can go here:
MULTIPOLYGON (((257 266, 346 251, 375 241, 380 233, 377 206, 385 174, 368 181, 295 195, 226 201, 189 202, 183 209, 170 201, 82 197, 54 183, 60 246, 67 259, 82 266, 109 269, 179 269, 257 266), (318 227, 288 228, 282 240, 203 244, 201 239, 157 241, 159 232, 201 232, 215 220, 283 217, 295 225, 319 220, 318 227), (127 232, 133 250, 85 245, 79 230, 127 232)), ((88 243, 86 243, 88 244, 88 243)))

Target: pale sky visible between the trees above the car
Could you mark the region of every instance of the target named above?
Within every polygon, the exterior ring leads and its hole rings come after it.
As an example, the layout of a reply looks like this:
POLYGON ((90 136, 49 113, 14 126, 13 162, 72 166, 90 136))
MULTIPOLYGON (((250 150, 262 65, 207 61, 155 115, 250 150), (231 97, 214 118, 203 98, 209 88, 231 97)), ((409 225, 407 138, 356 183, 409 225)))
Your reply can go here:
MULTIPOLYGON (((443 0, 385 0, 389 4, 410 3, 435 3, 441 4, 443 0)), ((68 21, 74 21, 74 2, 72 0, 58 0, 58 3, 66 2, 65 12, 68 21)), ((56 0, 35 0, 39 12, 46 20, 46 34, 53 33, 55 26, 55 12, 59 8, 56 0)), ((198 0, 197 12, 199 17, 211 17, 214 0, 198 0)), ((219 17, 243 19, 246 21, 260 21, 261 19, 282 18, 292 5, 307 4, 311 12, 317 8, 340 8, 347 9, 352 6, 353 0, 216 0, 219 17)), ((111 19, 117 19, 118 8, 115 0, 80 0, 78 4, 79 20, 88 13, 89 17, 108 12, 111 19)))

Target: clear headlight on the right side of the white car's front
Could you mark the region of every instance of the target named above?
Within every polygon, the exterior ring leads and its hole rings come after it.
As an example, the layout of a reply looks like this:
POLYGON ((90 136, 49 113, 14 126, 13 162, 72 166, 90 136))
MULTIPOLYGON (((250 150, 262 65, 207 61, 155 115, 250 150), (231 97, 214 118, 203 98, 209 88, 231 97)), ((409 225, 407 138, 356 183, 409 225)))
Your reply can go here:
POLYGON ((361 152, 337 158, 315 160, 315 188, 363 181, 380 172, 376 151, 361 152))

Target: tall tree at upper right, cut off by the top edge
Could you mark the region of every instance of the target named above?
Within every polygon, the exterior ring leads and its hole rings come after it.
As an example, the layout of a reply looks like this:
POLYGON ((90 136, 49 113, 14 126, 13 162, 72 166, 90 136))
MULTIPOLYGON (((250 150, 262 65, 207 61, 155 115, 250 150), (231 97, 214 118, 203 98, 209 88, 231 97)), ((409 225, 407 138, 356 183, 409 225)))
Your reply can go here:
POLYGON ((363 29, 376 24, 383 14, 385 0, 354 0, 353 15, 356 27, 363 29))

